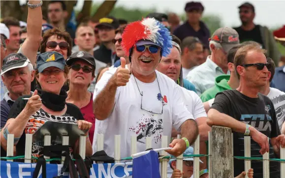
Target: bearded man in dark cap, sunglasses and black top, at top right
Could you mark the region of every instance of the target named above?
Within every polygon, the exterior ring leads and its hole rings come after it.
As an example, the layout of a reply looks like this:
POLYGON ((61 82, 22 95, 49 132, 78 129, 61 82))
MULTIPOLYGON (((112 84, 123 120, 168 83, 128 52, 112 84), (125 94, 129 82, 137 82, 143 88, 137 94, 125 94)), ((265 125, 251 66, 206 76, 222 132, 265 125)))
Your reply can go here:
POLYGON ((267 27, 254 24, 255 9, 253 4, 245 2, 238 8, 242 25, 234 28, 234 30, 239 33, 240 42, 255 41, 261 44, 262 48, 267 50, 268 57, 272 58, 275 65, 278 66, 281 54, 276 41, 272 32, 267 27))

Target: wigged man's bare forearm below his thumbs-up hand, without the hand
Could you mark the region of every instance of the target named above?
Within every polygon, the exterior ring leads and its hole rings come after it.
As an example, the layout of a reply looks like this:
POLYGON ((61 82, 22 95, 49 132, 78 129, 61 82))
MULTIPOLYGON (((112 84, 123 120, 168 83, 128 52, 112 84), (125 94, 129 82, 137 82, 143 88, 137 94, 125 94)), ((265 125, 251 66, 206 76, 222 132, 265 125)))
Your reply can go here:
POLYGON ((114 85, 112 78, 110 78, 104 89, 99 92, 93 103, 93 112, 98 120, 108 118, 113 110, 118 87, 114 85))

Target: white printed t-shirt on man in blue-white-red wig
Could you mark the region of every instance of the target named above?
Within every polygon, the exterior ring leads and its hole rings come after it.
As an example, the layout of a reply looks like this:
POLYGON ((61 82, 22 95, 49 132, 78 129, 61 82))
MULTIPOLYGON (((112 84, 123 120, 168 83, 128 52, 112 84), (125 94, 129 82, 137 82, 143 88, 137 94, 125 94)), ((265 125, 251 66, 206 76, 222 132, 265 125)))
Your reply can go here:
MULTIPOLYGON (((116 70, 117 67, 103 74, 95 86, 93 99, 116 70)), ((152 148, 161 148, 161 136, 168 136, 170 142, 172 125, 180 131, 179 127, 183 122, 193 119, 184 105, 180 86, 166 75, 158 71, 156 73, 158 80, 152 83, 143 83, 136 79, 136 84, 134 76, 131 75, 126 86, 117 88, 115 104, 110 116, 105 120, 96 119, 93 153, 96 152, 97 134, 104 135, 104 151, 111 157, 114 156, 115 135, 121 135, 121 157, 130 156, 132 135, 137 136, 137 152, 146 149, 146 137, 152 137, 152 148), (143 93, 143 96, 140 93, 143 93), (163 113, 160 114, 162 108, 163 113)))

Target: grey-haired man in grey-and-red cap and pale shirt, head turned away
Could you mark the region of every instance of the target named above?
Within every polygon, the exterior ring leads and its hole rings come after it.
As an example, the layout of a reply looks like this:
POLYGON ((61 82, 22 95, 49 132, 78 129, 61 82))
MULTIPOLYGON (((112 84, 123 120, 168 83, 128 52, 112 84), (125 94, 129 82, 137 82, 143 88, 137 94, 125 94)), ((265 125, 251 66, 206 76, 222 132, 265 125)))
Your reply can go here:
POLYGON ((209 43, 212 54, 186 77, 194 84, 198 95, 213 87, 217 76, 229 74, 226 55, 232 47, 239 45, 239 35, 234 29, 223 27, 214 32, 209 43))

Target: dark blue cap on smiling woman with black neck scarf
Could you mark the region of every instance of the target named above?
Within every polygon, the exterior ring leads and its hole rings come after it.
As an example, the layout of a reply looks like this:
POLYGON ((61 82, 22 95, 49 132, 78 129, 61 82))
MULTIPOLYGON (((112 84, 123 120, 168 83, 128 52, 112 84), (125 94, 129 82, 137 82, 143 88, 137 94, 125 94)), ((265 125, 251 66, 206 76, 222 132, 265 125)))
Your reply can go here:
POLYGON ((39 73, 48 67, 58 67, 63 70, 65 65, 63 55, 55 51, 42 53, 36 58, 36 69, 39 73))

